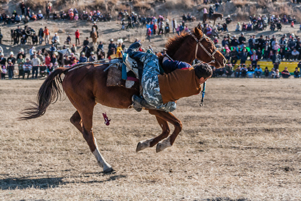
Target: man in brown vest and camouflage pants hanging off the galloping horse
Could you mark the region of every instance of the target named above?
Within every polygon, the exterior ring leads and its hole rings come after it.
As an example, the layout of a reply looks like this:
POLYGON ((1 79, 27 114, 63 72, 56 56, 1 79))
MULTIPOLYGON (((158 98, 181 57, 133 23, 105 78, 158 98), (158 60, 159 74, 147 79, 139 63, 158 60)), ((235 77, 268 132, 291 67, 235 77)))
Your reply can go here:
POLYGON ((211 75, 212 69, 208 64, 199 63, 194 68, 190 64, 163 59, 163 65, 172 72, 160 74, 159 59, 150 53, 137 52, 141 44, 133 43, 127 53, 132 59, 143 63, 142 88, 143 98, 133 95, 133 108, 140 112, 143 108, 173 112, 176 110, 175 101, 181 97, 198 94, 201 84, 211 75))

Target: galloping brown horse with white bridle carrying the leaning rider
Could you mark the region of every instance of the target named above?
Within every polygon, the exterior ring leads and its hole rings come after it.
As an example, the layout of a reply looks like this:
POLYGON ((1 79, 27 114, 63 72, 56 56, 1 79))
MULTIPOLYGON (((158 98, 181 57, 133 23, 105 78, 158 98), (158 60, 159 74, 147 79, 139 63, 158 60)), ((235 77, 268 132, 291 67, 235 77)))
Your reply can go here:
MULTIPOLYGON (((205 63, 212 62, 212 65, 220 68, 224 67, 226 59, 216 50, 213 42, 203 36, 203 33, 197 27, 192 34, 182 33, 180 36, 169 39, 166 44, 167 54, 179 61, 192 63, 196 57, 205 63), (200 40, 201 41, 196 41, 200 40), (197 43, 198 42, 198 43, 197 43), (198 46, 201 46, 198 48, 198 46), (213 56, 209 56, 213 54, 213 56)), ((163 56, 159 58, 162 63, 163 56)), ((78 65, 77 65, 78 66, 78 65)), ((107 71, 103 71, 108 65, 106 64, 87 64, 79 68, 58 68, 54 70, 42 84, 37 101, 32 108, 23 111, 21 120, 29 120, 41 117, 45 114, 47 107, 55 103, 63 90, 68 96, 76 112, 71 117, 71 123, 82 133, 88 143, 91 152, 94 154, 97 163, 103 168, 104 172, 112 171, 112 167, 104 160, 99 152, 96 139, 92 131, 92 117, 94 106, 99 103, 103 106, 119 109, 127 109, 132 105, 132 95, 139 94, 139 91, 123 88, 119 86, 106 86, 107 71), (75 68, 75 69, 74 69, 75 68), (65 74, 61 79, 61 74, 65 74)), ((157 145, 157 152, 171 147, 178 134, 182 130, 182 123, 172 113, 158 110, 149 110, 149 114, 155 115, 159 125, 162 128, 162 134, 156 138, 144 140, 138 143, 136 151, 157 145), (170 134, 168 122, 174 125, 175 130, 170 134), (165 139, 165 140, 164 140, 165 139), (163 141, 162 141, 163 140, 163 141), (160 142, 162 141, 162 142, 160 142)))

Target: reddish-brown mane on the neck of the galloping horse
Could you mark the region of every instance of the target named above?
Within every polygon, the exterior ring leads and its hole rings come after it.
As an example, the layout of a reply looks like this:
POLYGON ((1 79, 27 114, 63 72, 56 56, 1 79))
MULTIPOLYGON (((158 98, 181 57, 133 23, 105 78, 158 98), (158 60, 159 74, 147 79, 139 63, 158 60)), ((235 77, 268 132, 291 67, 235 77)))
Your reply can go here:
POLYGON ((173 57, 188 36, 189 34, 187 32, 182 32, 179 36, 169 38, 165 44, 165 48, 167 49, 166 53, 173 57))

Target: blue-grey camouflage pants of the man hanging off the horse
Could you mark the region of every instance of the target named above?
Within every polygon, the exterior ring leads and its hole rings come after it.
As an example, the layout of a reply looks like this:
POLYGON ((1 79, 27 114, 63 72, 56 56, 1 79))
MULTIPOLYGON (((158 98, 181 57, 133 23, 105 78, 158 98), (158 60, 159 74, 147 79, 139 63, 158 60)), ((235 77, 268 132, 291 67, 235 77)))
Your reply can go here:
POLYGON ((160 74, 159 59, 154 54, 144 53, 140 57, 143 62, 142 87, 143 98, 150 105, 157 109, 162 109, 165 112, 173 112, 176 110, 175 102, 163 103, 162 95, 160 93, 158 75, 160 74))

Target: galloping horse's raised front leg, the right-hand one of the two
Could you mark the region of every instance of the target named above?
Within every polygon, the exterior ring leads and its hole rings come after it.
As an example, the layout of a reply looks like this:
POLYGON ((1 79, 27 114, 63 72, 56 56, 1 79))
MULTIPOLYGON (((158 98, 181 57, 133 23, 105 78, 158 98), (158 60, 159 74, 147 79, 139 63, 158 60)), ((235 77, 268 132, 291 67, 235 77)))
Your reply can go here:
POLYGON ((165 120, 166 122, 171 123, 175 127, 175 130, 171 136, 169 136, 168 138, 166 138, 165 140, 163 140, 157 144, 156 151, 158 153, 168 147, 171 147, 174 144, 177 136, 182 131, 182 122, 180 120, 178 120, 172 113, 167 113, 164 111, 149 110, 149 114, 155 115, 156 117, 159 117, 159 118, 165 120))

